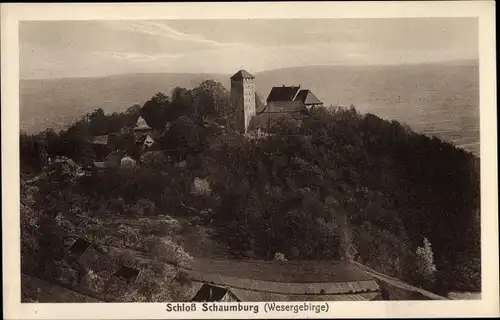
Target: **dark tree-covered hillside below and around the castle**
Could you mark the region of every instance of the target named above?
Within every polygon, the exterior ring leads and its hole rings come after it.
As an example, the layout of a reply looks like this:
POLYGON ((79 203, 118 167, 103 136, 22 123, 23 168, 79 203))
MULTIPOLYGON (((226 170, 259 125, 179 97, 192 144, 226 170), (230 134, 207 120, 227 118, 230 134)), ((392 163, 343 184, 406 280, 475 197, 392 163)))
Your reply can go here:
POLYGON ((235 257, 355 259, 436 293, 480 290, 477 157, 354 107, 316 110, 263 139, 233 131, 237 120, 209 80, 124 113, 96 110, 59 133, 23 134, 22 179, 38 180, 21 190, 31 190, 22 214, 163 214, 214 230, 235 257), (161 151, 136 156, 135 170, 43 174, 40 145, 83 166, 94 156, 86 141, 117 132, 134 154, 127 128, 139 115, 161 151))

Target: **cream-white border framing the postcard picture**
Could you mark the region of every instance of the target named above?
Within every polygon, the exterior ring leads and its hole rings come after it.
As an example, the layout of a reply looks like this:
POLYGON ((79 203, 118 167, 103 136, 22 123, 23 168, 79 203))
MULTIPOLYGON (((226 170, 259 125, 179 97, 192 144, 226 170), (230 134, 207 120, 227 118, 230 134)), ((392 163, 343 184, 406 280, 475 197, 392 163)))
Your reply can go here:
MULTIPOLYGON (((460 2, 1 4, 3 302, 6 319, 383 318, 499 315, 495 4, 460 2), (477 17, 480 52, 482 300, 335 302, 316 313, 167 313, 166 304, 21 304, 19 20, 477 17)), ((443 226, 445 228, 446 226, 443 226)), ((261 310, 263 303, 261 304, 261 310)))

